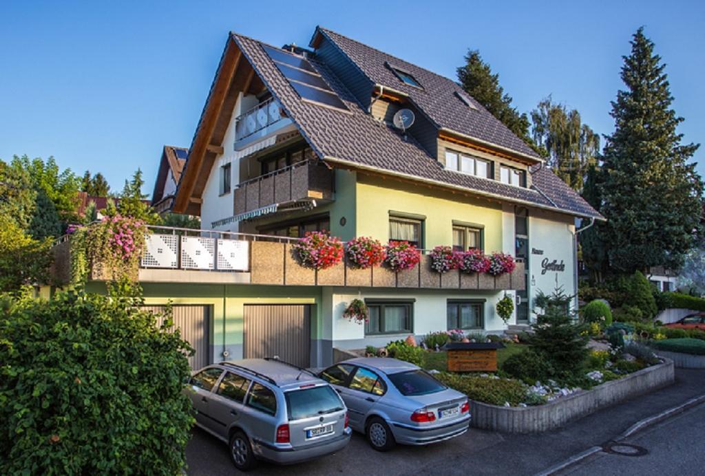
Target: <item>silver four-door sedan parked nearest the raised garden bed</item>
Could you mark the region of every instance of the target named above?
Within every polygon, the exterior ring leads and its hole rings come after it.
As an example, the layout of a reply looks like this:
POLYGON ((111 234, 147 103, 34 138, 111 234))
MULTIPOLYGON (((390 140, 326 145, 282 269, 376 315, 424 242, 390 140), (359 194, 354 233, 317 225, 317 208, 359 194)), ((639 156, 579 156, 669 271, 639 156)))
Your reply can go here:
POLYGON ((467 432, 470 425, 467 396, 412 363, 353 358, 319 376, 343 397, 353 430, 378 451, 396 443, 436 443, 467 432))

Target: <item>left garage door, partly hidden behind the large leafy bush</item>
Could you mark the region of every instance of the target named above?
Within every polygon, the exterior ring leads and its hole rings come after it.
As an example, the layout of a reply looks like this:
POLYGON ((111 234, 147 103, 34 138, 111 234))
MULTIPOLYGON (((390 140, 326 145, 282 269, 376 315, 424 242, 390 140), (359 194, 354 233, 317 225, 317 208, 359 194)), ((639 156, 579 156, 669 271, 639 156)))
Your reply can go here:
MULTIPOLYGON (((164 306, 144 306, 147 311, 161 313, 164 306)), ((192 370, 200 369, 210 363, 209 322, 211 306, 171 306, 173 327, 181 330, 181 338, 191 344, 196 353, 188 358, 192 370)), ((161 324, 161 320, 159 321, 161 324)))

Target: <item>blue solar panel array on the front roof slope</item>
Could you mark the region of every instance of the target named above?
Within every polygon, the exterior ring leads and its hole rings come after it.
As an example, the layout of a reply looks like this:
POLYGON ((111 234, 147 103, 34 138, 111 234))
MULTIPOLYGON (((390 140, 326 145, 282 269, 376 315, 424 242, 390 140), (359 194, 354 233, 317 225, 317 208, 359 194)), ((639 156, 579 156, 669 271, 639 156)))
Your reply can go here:
POLYGON ((306 58, 271 48, 271 46, 262 45, 262 48, 301 99, 334 108, 348 109, 306 58))

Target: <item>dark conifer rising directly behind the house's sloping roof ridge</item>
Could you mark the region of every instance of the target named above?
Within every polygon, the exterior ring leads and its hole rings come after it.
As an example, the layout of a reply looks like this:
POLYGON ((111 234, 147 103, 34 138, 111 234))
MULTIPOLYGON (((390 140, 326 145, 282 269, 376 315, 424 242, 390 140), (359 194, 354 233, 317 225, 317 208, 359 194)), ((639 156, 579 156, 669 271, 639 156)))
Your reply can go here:
POLYGON ((512 106, 512 98, 499 85, 499 75, 492 73, 489 64, 482 61, 479 51, 470 50, 465 55, 465 65, 457 69, 458 81, 479 104, 482 104, 510 131, 537 150, 529 137, 529 118, 512 106))

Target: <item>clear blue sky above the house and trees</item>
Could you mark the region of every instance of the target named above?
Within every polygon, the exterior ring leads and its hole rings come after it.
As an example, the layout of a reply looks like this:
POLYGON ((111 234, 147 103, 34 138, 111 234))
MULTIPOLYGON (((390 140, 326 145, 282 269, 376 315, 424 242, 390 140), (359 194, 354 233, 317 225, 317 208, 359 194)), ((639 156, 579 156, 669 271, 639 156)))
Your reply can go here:
MULTIPOLYGON (((685 142, 705 142, 705 2, 8 1, 0 3, 0 158, 147 187, 163 144, 189 146, 228 31, 306 45, 324 25, 455 78, 479 49, 520 111, 547 96, 601 134, 621 56, 644 25, 667 63, 685 142)), ((695 156, 705 175, 705 150, 695 156)))

